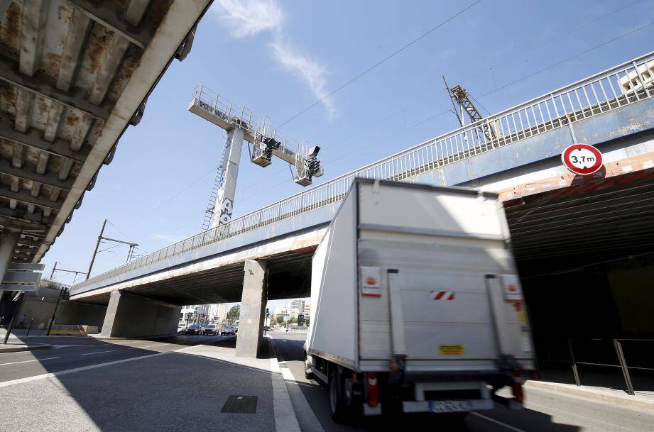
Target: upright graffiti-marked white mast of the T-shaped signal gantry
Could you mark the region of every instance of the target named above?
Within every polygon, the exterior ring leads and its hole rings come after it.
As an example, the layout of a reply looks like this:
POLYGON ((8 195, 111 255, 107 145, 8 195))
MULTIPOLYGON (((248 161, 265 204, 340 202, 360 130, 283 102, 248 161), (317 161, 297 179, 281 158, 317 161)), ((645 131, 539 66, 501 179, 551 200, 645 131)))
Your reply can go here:
POLYGON ((243 136, 244 131, 241 128, 234 128, 227 133, 229 157, 227 157, 227 166, 222 176, 222 186, 216 196, 212 228, 231 221, 234 195, 236 194, 236 179, 239 177, 241 151, 243 150, 243 136))

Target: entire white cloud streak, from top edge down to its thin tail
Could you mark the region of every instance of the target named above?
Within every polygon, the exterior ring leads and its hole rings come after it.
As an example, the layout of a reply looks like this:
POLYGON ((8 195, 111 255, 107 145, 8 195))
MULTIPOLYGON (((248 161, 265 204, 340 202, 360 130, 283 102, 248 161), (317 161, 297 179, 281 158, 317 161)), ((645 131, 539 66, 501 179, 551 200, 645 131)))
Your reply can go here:
MULTIPOLYGON (((221 7, 212 8, 234 38, 248 38, 269 31, 273 60, 285 70, 298 77, 310 89, 313 96, 322 99, 327 96, 327 67, 294 48, 283 35, 284 13, 276 0, 218 0, 221 7)), ((334 99, 322 101, 327 116, 336 114, 334 99)))

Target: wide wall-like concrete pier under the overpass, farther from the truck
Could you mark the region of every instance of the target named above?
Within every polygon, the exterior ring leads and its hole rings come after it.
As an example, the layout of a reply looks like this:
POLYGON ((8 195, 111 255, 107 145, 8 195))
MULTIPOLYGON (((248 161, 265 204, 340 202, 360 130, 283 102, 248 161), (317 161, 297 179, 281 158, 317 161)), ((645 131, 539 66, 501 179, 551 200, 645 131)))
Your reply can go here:
POLYGON ((148 299, 118 289, 111 292, 102 336, 148 338, 177 333, 182 306, 148 299))

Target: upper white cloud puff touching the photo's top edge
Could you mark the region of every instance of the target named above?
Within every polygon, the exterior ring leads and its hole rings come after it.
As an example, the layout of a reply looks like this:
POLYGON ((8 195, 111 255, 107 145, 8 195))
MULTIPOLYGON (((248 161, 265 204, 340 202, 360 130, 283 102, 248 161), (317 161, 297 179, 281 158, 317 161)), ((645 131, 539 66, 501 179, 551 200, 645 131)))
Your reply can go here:
POLYGON ((247 38, 262 31, 279 31, 284 13, 275 0, 218 0, 212 8, 234 38, 247 38))

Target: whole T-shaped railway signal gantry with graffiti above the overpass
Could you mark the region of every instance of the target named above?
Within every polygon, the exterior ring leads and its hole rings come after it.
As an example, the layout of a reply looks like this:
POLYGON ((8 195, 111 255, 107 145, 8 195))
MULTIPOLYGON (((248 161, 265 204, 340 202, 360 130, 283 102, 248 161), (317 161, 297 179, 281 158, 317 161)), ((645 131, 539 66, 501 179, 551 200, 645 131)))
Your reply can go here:
POLYGON ((289 164, 293 181, 301 186, 308 186, 313 177, 323 175, 318 145, 291 140, 278 128, 273 128, 267 117, 254 116, 250 109, 235 106, 203 84, 195 88, 188 110, 227 133, 202 219, 202 231, 231 221, 244 140, 248 143, 251 162, 267 167, 273 162, 273 156, 278 157, 289 164))

